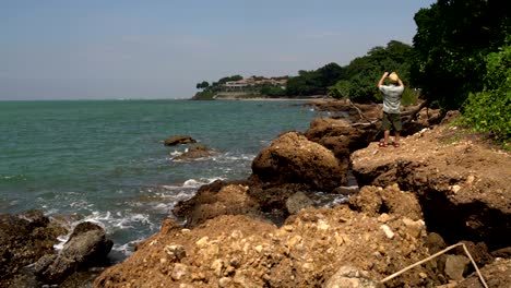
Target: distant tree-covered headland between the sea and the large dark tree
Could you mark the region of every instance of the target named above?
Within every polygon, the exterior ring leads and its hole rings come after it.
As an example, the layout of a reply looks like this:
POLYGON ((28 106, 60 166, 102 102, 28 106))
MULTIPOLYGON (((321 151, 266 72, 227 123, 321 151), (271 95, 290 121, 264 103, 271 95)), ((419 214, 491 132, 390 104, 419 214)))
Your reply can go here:
MULTIPOLYGON (((275 80, 286 79, 283 86, 257 85, 246 87, 247 92, 255 92, 269 97, 304 97, 312 95, 329 95, 336 98, 352 98, 357 101, 378 100, 379 94, 376 82, 384 71, 396 71, 406 81, 409 77, 412 62, 412 47, 392 40, 387 47, 375 47, 366 56, 356 58, 348 65, 329 63, 318 70, 298 71, 297 76, 278 76, 275 80)), ((251 76, 262 80, 263 76, 251 76)), ((197 96, 213 97, 216 93, 225 91, 226 84, 239 81, 241 75, 226 76, 217 82, 203 81, 197 84, 202 89, 197 96)))

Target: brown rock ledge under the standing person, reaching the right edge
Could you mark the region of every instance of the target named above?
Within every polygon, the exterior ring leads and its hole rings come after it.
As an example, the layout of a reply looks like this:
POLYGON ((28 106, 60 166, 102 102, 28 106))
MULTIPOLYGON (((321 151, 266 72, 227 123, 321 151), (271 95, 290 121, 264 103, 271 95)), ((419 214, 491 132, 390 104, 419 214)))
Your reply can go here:
POLYGON ((371 143, 352 155, 360 185, 397 183, 418 195, 428 228, 449 242, 511 243, 511 156, 442 125, 402 139, 401 147, 371 143))

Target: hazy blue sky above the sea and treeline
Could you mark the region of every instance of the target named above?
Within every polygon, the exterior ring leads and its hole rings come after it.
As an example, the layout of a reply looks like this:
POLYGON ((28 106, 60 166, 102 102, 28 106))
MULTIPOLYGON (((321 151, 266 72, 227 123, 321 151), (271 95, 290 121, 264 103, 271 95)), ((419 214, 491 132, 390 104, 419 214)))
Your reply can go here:
POLYGON ((0 100, 190 98, 198 82, 412 44, 432 0, 1 0, 0 100))

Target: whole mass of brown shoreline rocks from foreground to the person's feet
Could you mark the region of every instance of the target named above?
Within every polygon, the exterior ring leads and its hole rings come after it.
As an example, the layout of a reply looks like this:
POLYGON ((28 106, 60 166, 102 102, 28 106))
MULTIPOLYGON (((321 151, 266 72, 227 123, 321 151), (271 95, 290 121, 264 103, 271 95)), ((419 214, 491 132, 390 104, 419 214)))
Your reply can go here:
POLYGON ((280 135, 249 178, 215 181, 178 203, 94 286, 485 287, 461 248, 382 283, 460 242, 488 287, 511 286, 509 153, 448 125, 451 113, 420 107, 403 113, 401 147, 380 148, 379 105, 308 105, 332 115, 280 135), (346 187, 350 171, 359 192, 346 187), (350 195, 329 208, 320 194, 350 195))

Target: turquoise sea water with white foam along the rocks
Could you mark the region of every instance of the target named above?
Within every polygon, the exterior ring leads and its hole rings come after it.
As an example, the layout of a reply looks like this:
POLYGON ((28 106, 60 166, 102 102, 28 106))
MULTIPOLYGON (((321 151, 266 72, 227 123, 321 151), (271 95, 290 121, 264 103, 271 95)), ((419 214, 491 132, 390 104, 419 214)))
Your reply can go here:
POLYGON ((31 208, 103 225, 114 259, 159 229, 173 206, 216 179, 247 178, 280 133, 304 132, 296 101, 0 101, 0 214, 31 208), (177 161, 191 135, 217 156, 177 161))

